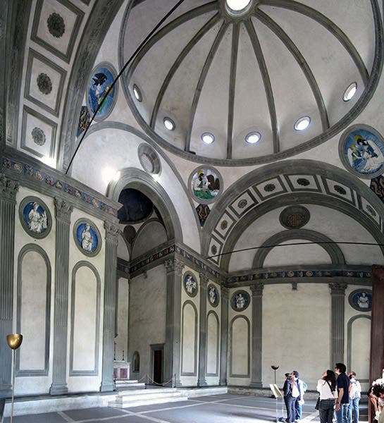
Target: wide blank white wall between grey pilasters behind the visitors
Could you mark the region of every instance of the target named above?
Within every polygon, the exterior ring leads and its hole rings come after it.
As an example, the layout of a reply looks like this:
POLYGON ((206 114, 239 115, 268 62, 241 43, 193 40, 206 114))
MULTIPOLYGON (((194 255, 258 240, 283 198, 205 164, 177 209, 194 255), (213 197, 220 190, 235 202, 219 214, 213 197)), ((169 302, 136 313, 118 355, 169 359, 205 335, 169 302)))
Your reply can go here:
POLYGON ((278 364, 278 386, 295 369, 309 389, 316 389, 331 364, 330 302, 327 283, 299 283, 297 290, 289 283, 264 286, 263 386, 274 383, 271 365, 278 364))

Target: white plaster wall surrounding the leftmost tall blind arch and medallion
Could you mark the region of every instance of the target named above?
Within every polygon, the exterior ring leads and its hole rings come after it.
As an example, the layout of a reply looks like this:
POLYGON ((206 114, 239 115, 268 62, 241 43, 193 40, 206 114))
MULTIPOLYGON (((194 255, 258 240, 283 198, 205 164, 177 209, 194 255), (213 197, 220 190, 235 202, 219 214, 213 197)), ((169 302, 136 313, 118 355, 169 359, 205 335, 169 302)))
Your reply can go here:
MULTIPOLYGON (((16 194, 16 210, 15 210, 16 216, 15 216, 15 260, 13 262, 13 275, 14 275, 14 284, 13 284, 13 332, 16 333, 16 317, 17 317, 17 280, 18 280, 18 255, 20 253, 20 250, 27 244, 35 244, 39 245, 39 247, 42 247, 42 249, 47 253, 47 257, 49 259, 49 262, 51 264, 51 275, 52 275, 52 281, 54 277, 55 272, 55 236, 56 236, 56 221, 54 219, 54 201, 51 197, 48 197, 47 195, 43 195, 40 192, 35 192, 34 190, 30 190, 29 188, 25 188, 23 186, 20 186, 18 193, 16 194), (47 235, 46 238, 43 239, 35 239, 32 238, 30 235, 25 232, 23 229, 23 226, 20 223, 19 219, 19 207, 20 202, 23 201, 23 199, 27 196, 35 196, 39 199, 41 199, 45 204, 47 204, 47 207, 49 211, 51 212, 52 216, 52 228, 51 232, 47 235)), ((35 265, 35 264, 34 264, 35 265)), ((35 277, 38 276, 40 273, 37 270, 36 274, 33 276, 35 281, 35 277)), ((32 282, 32 281, 31 281, 32 282)), ((38 283, 39 284, 39 283, 38 283)), ((41 286, 40 286, 41 288, 41 286)), ((41 295, 41 292, 36 292, 36 294, 41 295)), ((44 287, 44 295, 45 295, 45 287, 44 287)), ((54 286, 52 286, 51 290, 51 305, 54 304, 54 286)), ((51 306, 51 321, 53 321, 54 316, 54 309, 51 306)), ((34 319, 39 320, 41 319, 41 314, 37 312, 37 310, 33 310, 32 314, 30 315, 30 320, 34 321, 34 319), (36 314, 35 314, 36 313, 36 314)), ((50 345, 49 345, 49 374, 48 376, 29 376, 29 377, 16 377, 16 383, 15 383, 15 395, 33 395, 33 394, 39 394, 39 393, 48 393, 49 387, 51 386, 51 357, 53 354, 53 331, 54 331, 54 325, 51 324, 50 327, 50 345)), ((28 335, 25 333, 25 336, 28 335)), ((41 334, 38 336, 41 338, 41 334)), ((30 341, 27 341, 26 345, 28 345, 30 341)), ((30 347, 32 348, 32 345, 30 344, 30 347)), ((23 354, 23 344, 20 346, 19 352, 20 354, 23 354)))

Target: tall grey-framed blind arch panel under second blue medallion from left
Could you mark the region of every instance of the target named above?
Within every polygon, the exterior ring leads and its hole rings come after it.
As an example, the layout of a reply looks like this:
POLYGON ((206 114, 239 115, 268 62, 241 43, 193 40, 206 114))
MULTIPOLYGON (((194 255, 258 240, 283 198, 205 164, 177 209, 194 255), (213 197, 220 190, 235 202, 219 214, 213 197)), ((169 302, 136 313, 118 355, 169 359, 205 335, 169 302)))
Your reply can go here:
MULTIPOLYGON (((90 282, 90 281, 87 281, 90 282)), ((86 286, 85 291, 83 292, 83 295, 87 295, 89 298, 89 304, 92 306, 91 300, 92 300, 92 290, 91 287, 86 286)), ((97 375, 99 374, 99 338, 100 338, 100 297, 101 297, 101 278, 99 276, 99 272, 97 271, 96 267, 85 261, 81 261, 75 264, 72 269, 72 290, 71 290, 71 313, 70 313, 70 368, 69 373, 70 376, 89 376, 89 375, 97 375), (94 367, 93 369, 75 369, 74 365, 74 359, 75 355, 78 355, 75 351, 75 329, 76 329, 76 314, 78 313, 77 304, 76 304, 76 294, 77 291, 77 283, 78 280, 76 278, 76 274, 78 274, 78 271, 82 268, 87 268, 94 274, 94 278, 96 281, 96 286, 94 287, 94 319, 91 318, 90 321, 94 321, 94 333, 92 336, 94 337, 93 342, 93 361, 94 361, 94 367)), ((89 307, 89 305, 88 305, 89 307)), ((82 309, 83 307, 81 307, 82 309)), ((82 309, 82 312, 88 314, 86 309, 82 309)), ((89 312, 90 314, 90 312, 89 312)), ((81 314, 80 314, 81 316, 81 314)), ((92 328, 87 328, 89 331, 92 330, 92 328)), ((89 332, 90 333, 90 332, 89 332)), ((92 336, 89 335, 90 339, 92 340, 92 336)), ((92 345, 89 345, 89 347, 92 347, 92 345)), ((87 353, 89 353, 89 350, 87 353)), ((85 350, 82 349, 81 352, 83 355, 85 355, 85 350)), ((89 359, 91 358, 89 354, 87 354, 87 357, 89 359)), ((78 357, 81 358, 81 357, 78 357)), ((90 361, 90 360, 89 360, 90 361)))

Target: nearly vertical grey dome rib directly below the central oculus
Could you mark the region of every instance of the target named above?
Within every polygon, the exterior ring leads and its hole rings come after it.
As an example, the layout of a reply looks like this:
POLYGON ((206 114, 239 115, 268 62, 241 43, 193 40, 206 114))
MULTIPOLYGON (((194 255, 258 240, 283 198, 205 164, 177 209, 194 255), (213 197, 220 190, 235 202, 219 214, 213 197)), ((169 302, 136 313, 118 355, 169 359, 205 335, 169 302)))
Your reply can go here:
POLYGON ((230 56, 230 82, 228 95, 227 159, 232 159, 233 115, 235 108, 237 51, 239 49, 240 23, 233 24, 232 51, 230 56))

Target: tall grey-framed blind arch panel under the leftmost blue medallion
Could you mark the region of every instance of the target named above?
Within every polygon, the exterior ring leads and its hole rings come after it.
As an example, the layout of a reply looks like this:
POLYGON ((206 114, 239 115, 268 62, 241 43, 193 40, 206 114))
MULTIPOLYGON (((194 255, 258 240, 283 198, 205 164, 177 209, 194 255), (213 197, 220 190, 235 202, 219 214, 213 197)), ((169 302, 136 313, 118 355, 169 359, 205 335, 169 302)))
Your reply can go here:
MULTIPOLYGON (((21 350, 16 351, 16 374, 18 376, 47 376, 49 372, 49 343, 50 343, 50 321, 51 321, 51 263, 49 262, 49 257, 47 255, 47 252, 43 250, 42 247, 36 244, 27 244, 25 245, 19 252, 18 255, 18 286, 17 286, 17 331, 18 333, 24 333, 24 335, 27 335, 25 333, 25 330, 22 328, 22 307, 23 307, 23 259, 25 256, 30 253, 35 252, 38 255, 40 255, 43 259, 43 262, 46 266, 46 281, 45 281, 45 313, 44 313, 44 330, 40 331, 44 338, 44 346, 42 348, 42 355, 44 356, 44 364, 41 369, 20 369, 20 364, 22 360, 22 353, 21 350)), ((36 267, 33 269, 34 275, 37 273, 36 267)), ((33 291, 37 291, 36 283, 33 283, 33 291)), ((43 288, 43 282, 42 282, 42 288, 43 288)), ((42 297, 40 297, 42 298, 42 297)), ((30 298, 29 298, 30 300, 30 298)), ((36 302, 31 303, 32 308, 34 309, 34 312, 40 312, 41 307, 37 307, 36 302)), ((30 316, 30 314, 27 313, 27 315, 30 316)), ((33 314, 32 314, 33 315, 33 314)), ((40 318, 43 316, 41 315, 40 318)), ((30 320, 30 319, 29 319, 30 320)), ((33 324, 35 327, 35 324, 37 323, 36 319, 33 319, 33 324)), ((39 327, 35 327, 34 329, 34 336, 37 338, 39 331, 39 327)), ((24 343, 23 350, 25 351, 25 354, 27 354, 27 345, 24 343)), ((36 351, 36 348, 33 348, 35 353, 39 353, 36 351)))

